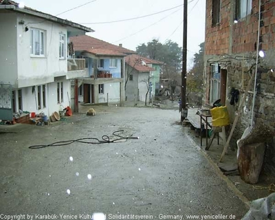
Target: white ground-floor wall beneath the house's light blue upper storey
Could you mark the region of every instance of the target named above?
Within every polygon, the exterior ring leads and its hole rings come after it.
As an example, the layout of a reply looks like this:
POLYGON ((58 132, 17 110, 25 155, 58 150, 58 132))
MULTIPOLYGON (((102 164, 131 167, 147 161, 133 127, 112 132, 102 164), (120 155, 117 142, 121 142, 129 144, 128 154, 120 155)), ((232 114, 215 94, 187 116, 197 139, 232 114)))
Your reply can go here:
MULTIPOLYGON (((97 85, 98 89, 98 85, 97 85)), ((98 94, 98 103, 107 102, 107 94, 109 95, 109 102, 120 101, 120 83, 106 83, 104 84, 104 94, 98 94)))

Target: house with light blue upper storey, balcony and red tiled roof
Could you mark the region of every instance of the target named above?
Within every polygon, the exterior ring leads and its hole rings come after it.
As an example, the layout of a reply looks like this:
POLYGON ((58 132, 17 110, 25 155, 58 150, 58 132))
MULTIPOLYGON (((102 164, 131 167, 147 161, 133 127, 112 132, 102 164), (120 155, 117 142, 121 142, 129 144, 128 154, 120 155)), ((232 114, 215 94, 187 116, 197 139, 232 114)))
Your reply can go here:
POLYGON ((78 77, 78 102, 124 102, 124 57, 135 52, 91 36, 73 36, 74 56, 85 59, 78 77))

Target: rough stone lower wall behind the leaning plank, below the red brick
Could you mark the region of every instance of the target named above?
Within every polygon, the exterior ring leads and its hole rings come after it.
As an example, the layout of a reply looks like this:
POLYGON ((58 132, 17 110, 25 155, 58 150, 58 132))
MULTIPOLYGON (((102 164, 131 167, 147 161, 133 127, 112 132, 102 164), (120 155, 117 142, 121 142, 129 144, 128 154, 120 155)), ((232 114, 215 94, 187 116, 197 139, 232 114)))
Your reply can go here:
MULTIPOLYGON (((244 94, 245 89, 248 87, 250 80, 250 74, 244 73, 248 70, 248 67, 241 67, 241 62, 231 63, 228 65, 228 89, 226 106, 230 114, 231 126, 234 122, 237 109, 241 102, 241 97, 244 94), (243 82, 243 83, 242 83, 243 82), (234 87, 240 91, 239 102, 230 104, 230 89, 234 87)), ((254 105, 254 122, 256 124, 265 124, 275 130, 275 72, 272 72, 272 68, 259 67, 257 74, 257 86, 256 86, 256 100, 254 105)), ((253 104, 253 89, 254 80, 252 80, 252 89, 250 89, 248 96, 245 98, 245 103, 241 111, 241 117, 236 124, 230 146, 236 148, 236 140, 241 138, 243 131, 250 126, 252 117, 252 104, 253 104)), ((267 149, 265 153, 264 170, 267 175, 275 175, 275 139, 267 142, 267 149)))

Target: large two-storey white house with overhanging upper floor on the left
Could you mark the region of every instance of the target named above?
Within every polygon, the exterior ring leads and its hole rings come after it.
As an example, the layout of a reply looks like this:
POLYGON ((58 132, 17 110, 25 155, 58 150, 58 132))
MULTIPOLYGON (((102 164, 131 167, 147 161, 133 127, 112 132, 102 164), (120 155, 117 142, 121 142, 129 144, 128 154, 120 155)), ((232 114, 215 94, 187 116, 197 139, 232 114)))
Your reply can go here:
POLYGON ((19 110, 50 116, 70 106, 71 80, 85 59, 67 58, 69 37, 93 30, 2 0, 0 28, 0 119, 19 110))

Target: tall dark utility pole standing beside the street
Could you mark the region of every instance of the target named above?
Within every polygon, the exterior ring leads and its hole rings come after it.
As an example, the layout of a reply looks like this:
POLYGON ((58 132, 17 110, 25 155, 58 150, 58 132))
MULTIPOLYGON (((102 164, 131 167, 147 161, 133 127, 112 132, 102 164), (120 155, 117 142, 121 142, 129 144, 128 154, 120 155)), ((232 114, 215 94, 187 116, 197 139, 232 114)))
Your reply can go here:
POLYGON ((181 70, 181 122, 187 117, 186 109, 186 69, 187 69, 187 0, 184 0, 184 37, 182 44, 181 70))

